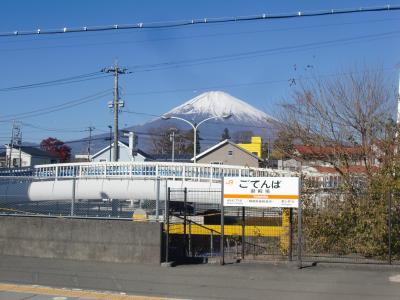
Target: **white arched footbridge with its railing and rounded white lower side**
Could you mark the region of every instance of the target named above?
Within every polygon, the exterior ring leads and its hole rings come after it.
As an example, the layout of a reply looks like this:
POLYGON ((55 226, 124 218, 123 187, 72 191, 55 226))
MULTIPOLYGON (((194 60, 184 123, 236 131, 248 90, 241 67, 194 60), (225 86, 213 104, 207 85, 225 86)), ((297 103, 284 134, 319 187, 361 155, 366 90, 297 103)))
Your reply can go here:
MULTIPOLYGON (((165 200, 168 187, 219 189, 223 176, 298 176, 298 173, 266 168, 171 162, 37 165, 0 169, 0 202, 165 200)), ((325 181, 323 178, 321 180, 325 181)))

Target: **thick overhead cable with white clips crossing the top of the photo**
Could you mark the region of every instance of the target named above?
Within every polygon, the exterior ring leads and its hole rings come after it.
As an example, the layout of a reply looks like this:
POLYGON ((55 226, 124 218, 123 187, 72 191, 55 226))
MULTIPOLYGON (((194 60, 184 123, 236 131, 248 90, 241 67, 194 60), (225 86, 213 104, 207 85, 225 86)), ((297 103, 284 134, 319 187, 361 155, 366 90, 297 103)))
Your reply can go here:
POLYGON ((0 33, 0 37, 11 37, 11 36, 27 36, 27 35, 54 35, 54 34, 66 34, 66 33, 77 33, 77 32, 100 32, 100 31, 118 31, 118 30, 142 30, 142 29, 155 29, 155 28, 175 28, 175 27, 187 27, 199 24, 221 24, 221 23, 239 23, 249 21, 265 21, 274 19, 292 19, 301 17, 319 17, 327 15, 339 15, 339 14, 353 14, 353 13, 367 13, 367 12, 382 12, 382 11, 397 11, 400 10, 399 5, 385 5, 378 7, 360 7, 351 9, 329 9, 320 11, 297 11, 294 13, 281 13, 281 14, 269 14, 263 13, 260 15, 253 16, 238 16, 238 17, 220 17, 220 18, 202 18, 192 19, 186 21, 161 21, 161 22, 150 22, 143 23, 139 22, 136 24, 122 24, 122 25, 106 25, 106 26, 84 26, 84 27, 64 27, 62 29, 36 29, 31 31, 18 31, 3 32, 0 33))

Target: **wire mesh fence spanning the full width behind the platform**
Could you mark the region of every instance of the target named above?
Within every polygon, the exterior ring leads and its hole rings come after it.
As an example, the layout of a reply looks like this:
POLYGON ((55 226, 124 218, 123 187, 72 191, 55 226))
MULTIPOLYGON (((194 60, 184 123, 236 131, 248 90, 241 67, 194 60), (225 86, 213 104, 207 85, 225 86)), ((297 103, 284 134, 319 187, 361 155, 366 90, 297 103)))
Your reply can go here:
MULTIPOLYGON (((72 197, 23 200, 36 179, 0 181, 0 215, 118 218, 165 223, 169 259, 219 257, 227 259, 296 260, 298 210, 281 208, 224 208, 221 245, 221 190, 167 189, 156 182, 142 199, 72 197), (18 190, 15 187, 20 187, 18 190), (8 190, 6 190, 8 189, 8 190), (165 199, 169 199, 166 201, 165 199), (221 247, 223 246, 223 247, 221 247)), ((140 181, 134 181, 135 187, 140 181)), ((81 188, 90 181, 80 181, 81 188)), ((113 183, 111 183, 113 184, 113 183)), ((344 193, 304 190, 302 194, 301 258, 305 261, 398 263, 400 261, 400 194, 344 193)))

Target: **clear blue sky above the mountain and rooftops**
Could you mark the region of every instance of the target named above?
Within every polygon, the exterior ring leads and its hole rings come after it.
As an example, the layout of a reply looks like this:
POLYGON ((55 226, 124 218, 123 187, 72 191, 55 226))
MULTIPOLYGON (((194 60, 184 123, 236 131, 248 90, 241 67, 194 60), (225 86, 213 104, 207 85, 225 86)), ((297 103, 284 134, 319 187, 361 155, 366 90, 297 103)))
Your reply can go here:
MULTIPOLYGON (((243 16, 298 10, 400 4, 399 1, 1 1, 0 31, 74 26, 131 24, 243 16)), ((400 12, 336 15, 225 25, 199 25, 170 30, 82 33, 0 39, 0 89, 96 72, 113 64, 129 67, 120 86, 126 110, 160 115, 207 90, 223 90, 270 115, 296 86, 291 78, 345 72, 354 65, 383 67, 396 83, 400 62, 400 12), (398 31, 398 33, 397 33, 398 31), (393 33, 387 35, 387 33, 393 33), (385 35, 386 34, 386 35, 385 35), (362 40, 356 37, 370 36, 362 40), (379 37, 379 38, 377 38, 379 37), (326 41, 349 39, 347 42, 326 41), (288 48, 316 43, 306 50, 288 48), (147 65, 226 56, 281 48, 247 59, 195 64, 143 72, 147 65)), ((74 84, 0 91, 0 121, 110 89, 108 97, 66 110, 20 119, 43 127, 23 126, 25 141, 48 136, 62 140, 84 137, 88 126, 107 132, 112 113, 111 77, 74 84), (54 131, 51 131, 54 130, 54 131)), ((145 114, 121 115, 121 126, 146 122, 145 114)), ((17 118, 18 120, 18 118, 17 118)), ((0 122, 0 143, 9 140, 10 122, 0 122)))

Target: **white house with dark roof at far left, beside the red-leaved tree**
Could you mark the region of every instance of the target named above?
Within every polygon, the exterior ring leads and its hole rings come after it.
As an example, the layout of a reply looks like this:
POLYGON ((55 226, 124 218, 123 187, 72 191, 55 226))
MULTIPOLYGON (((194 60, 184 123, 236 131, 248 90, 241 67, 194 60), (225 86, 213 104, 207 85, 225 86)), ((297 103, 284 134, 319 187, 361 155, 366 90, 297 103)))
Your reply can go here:
POLYGON ((60 158, 50 152, 33 146, 6 146, 6 167, 29 167, 60 162, 60 158))

